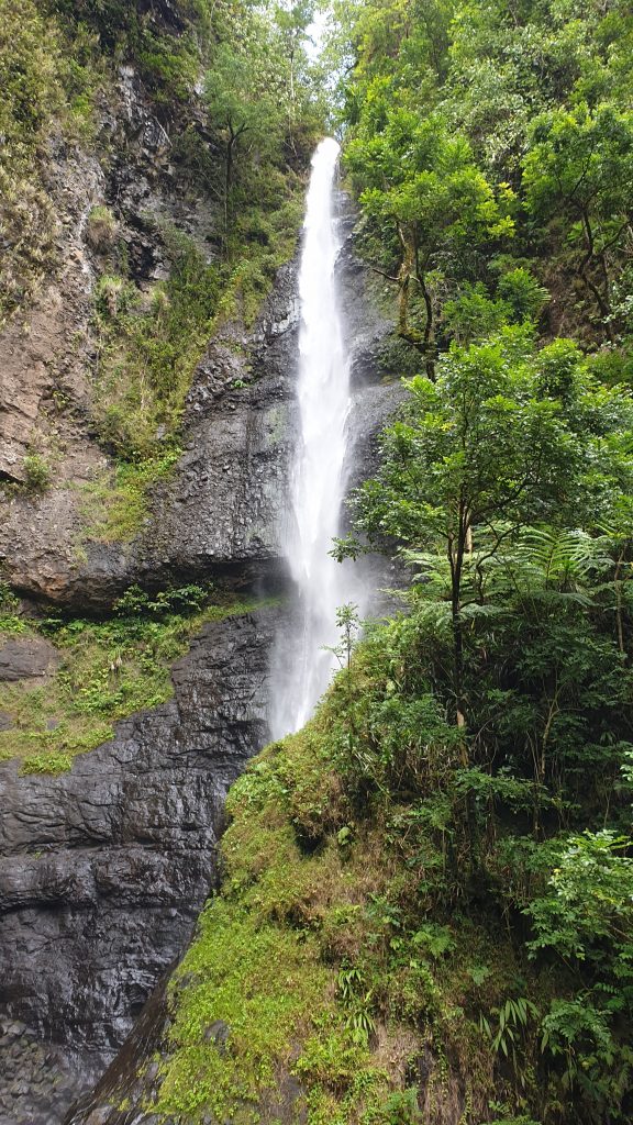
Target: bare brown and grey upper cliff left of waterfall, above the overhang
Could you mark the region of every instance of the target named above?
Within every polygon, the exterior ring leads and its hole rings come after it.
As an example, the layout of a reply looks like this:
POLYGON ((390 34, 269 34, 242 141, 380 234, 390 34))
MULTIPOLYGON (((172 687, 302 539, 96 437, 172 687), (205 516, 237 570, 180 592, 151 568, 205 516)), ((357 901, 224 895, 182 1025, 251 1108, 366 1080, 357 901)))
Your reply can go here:
MULTIPOLYGON (((132 68, 121 68, 98 115, 91 151, 51 152, 56 268, 0 334, 0 480, 11 485, 1 504, 5 578, 27 596, 82 609, 107 608, 140 576, 159 585, 171 572, 222 570, 238 557, 259 560, 274 552, 266 529, 274 523, 284 471, 279 379, 288 368, 284 340, 292 348, 294 318, 287 270, 256 333, 226 326, 202 360, 186 408, 185 454, 172 486, 157 497, 155 519, 140 529, 145 534, 134 546, 95 538, 86 492, 113 461, 93 417, 100 363, 96 286, 108 263, 91 216, 99 208, 112 216, 130 282, 140 294, 169 273, 161 232, 180 232, 213 259, 217 218, 208 196, 191 187, 187 168, 172 162, 173 142, 132 68), (277 336, 275 369, 267 368, 266 379, 249 388, 251 369, 261 374, 262 345, 270 353, 277 336), (24 490, 34 451, 50 466, 50 487, 41 495, 24 490), (209 492, 212 528, 200 519, 209 492)), ((195 124, 213 152, 203 125, 195 124)))

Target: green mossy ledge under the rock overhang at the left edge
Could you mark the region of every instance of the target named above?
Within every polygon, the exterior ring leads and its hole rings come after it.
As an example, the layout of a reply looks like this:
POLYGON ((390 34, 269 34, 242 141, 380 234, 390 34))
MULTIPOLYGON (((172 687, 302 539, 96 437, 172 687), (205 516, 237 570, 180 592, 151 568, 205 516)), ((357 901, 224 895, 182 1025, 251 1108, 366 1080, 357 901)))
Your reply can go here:
MULTIPOLYGON (((168 700, 173 693, 170 667, 202 626, 256 608, 237 601, 208 604, 208 597, 200 606, 199 601, 193 598, 180 612, 163 602, 158 618, 142 615, 143 606, 134 615, 106 621, 0 618, 0 644, 3 636, 39 632, 62 658, 44 684, 0 685, 0 710, 12 722, 0 731, 0 759, 23 758, 25 773, 59 773, 74 755, 112 738, 119 719, 168 700)), ((160 609, 161 603, 151 604, 160 609)))

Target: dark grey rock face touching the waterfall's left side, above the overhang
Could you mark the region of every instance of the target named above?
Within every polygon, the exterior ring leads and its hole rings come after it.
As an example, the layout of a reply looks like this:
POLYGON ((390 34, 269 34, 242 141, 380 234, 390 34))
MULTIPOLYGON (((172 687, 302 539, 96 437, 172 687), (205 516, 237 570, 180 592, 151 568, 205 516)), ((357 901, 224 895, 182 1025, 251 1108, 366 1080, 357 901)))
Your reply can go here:
POLYGON ((136 547, 144 580, 219 574, 275 583, 283 574, 297 350, 296 267, 279 270, 255 333, 209 343, 188 397, 187 448, 136 547))

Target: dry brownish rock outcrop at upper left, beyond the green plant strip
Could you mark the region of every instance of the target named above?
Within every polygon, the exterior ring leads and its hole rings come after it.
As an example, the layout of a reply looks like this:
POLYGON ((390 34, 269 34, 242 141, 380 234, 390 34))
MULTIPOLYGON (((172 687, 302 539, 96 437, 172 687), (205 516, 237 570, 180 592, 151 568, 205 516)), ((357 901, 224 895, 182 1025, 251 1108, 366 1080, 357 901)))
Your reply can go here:
MULTIPOLYGON (((178 29, 169 3, 153 8, 154 17, 178 29)), ((0 331, 0 486, 9 485, 5 495, 0 490, 0 565, 16 588, 59 604, 104 608, 133 580, 134 569, 121 547, 89 544, 86 561, 82 546, 81 489, 110 465, 91 418, 93 289, 105 268, 93 209, 110 208, 140 290, 168 276, 161 228, 175 226, 206 258, 214 253, 216 205, 199 186, 193 198, 187 169, 173 161, 169 128, 180 126, 159 112, 134 69, 122 66, 97 106, 93 146, 51 140, 45 179, 56 266, 0 331), (32 484, 33 454, 48 466, 51 486, 42 495, 20 492, 32 484)), ((213 156, 195 104, 187 125, 213 156)))

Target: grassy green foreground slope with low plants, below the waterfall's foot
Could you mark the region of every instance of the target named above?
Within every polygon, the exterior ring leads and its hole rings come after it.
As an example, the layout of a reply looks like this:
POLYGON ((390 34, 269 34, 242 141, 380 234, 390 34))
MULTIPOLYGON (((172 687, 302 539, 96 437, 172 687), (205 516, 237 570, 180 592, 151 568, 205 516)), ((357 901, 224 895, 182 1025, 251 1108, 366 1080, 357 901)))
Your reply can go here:
POLYGON ((529 1005, 545 1010, 564 973, 535 971, 484 899, 438 906, 447 857, 411 819, 414 800, 365 803, 349 789, 346 708, 339 677, 316 718, 231 791, 224 882, 172 986, 158 1108, 235 1125, 302 1110, 310 1125, 528 1123, 540 1101, 529 1005), (510 996, 525 999, 527 1020, 494 1047, 510 996), (230 1029, 220 1046, 215 1020, 230 1029), (519 1087, 505 1056, 515 1050, 519 1087), (288 1071, 303 1091, 293 1109, 288 1071))

